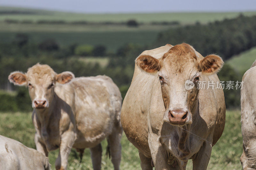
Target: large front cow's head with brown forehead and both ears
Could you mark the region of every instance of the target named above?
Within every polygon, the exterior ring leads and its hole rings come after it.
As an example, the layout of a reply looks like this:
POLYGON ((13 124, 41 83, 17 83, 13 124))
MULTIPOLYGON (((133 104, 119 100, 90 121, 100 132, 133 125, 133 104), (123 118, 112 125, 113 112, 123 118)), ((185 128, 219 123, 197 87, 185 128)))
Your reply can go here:
POLYGON ((135 62, 148 73, 156 76, 158 73, 165 107, 164 122, 172 125, 192 123, 191 110, 199 92, 197 82, 204 74, 217 73, 223 65, 218 55, 200 59, 195 49, 185 43, 172 47, 159 59, 140 55, 135 62), (187 80, 195 84, 192 89, 186 90, 187 80))

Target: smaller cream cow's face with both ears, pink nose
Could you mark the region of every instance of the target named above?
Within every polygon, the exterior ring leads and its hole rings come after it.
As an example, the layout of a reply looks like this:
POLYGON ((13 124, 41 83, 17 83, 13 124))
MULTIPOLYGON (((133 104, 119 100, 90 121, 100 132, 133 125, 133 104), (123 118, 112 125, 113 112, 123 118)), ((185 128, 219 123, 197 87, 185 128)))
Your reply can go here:
POLYGON ((36 64, 29 68, 26 74, 12 72, 8 79, 14 85, 28 86, 32 107, 44 109, 52 102, 55 83, 65 84, 74 77, 74 74, 69 71, 56 74, 50 66, 36 64))

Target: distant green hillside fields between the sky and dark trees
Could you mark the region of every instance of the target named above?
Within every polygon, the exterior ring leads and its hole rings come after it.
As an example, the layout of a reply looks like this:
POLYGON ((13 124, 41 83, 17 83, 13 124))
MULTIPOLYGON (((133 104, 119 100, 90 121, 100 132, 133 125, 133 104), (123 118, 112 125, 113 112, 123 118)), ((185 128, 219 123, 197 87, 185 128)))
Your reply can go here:
MULTIPOLYGON (((207 23, 224 18, 234 18, 239 12, 184 12, 184 13, 115 13, 115 14, 85 14, 60 11, 45 11, 28 8, 0 6, 0 40, 10 43, 17 33, 26 33, 32 43, 40 43, 48 38, 55 39, 60 46, 72 44, 104 45, 108 52, 126 43, 141 46, 152 44, 158 33, 175 25, 152 25, 153 21, 178 21, 181 25, 193 24, 197 21, 207 23), (7 23, 6 19, 17 23, 7 23), (143 23, 138 27, 108 24, 71 24, 73 21, 87 22, 126 22, 136 19, 143 23), (64 23, 41 23, 44 21, 64 21, 64 23), (29 21, 22 23, 22 21, 29 21)), ((256 11, 243 12, 246 16, 256 15, 256 11)))

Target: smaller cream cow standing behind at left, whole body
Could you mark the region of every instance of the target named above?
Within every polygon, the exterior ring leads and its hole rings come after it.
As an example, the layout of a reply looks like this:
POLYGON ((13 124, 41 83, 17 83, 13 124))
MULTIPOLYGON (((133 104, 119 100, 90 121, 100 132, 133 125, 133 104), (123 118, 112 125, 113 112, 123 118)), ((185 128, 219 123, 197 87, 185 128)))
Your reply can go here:
POLYGON ((90 148, 94 169, 101 167, 100 142, 107 138, 114 169, 121 160, 122 97, 107 76, 80 77, 56 74, 48 65, 36 64, 26 74, 13 72, 10 82, 28 86, 36 149, 46 156, 60 148, 56 169, 66 169, 71 148, 81 154, 90 148))

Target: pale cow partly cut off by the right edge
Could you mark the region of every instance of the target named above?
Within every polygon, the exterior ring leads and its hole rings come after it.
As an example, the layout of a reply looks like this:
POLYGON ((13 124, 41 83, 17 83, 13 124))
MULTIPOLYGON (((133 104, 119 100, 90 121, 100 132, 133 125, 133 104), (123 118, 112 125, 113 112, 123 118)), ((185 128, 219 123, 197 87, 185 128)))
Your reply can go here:
POLYGON ((244 73, 241 89, 241 123, 243 136, 243 154, 240 158, 244 170, 256 169, 256 67, 244 73))

